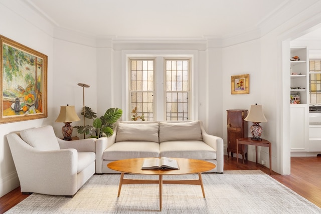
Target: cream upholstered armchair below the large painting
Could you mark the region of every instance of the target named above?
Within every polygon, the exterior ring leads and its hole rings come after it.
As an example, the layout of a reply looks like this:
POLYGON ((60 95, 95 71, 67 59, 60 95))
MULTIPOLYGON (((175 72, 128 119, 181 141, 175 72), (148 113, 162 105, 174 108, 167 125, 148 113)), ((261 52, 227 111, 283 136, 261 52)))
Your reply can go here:
POLYGON ((65 141, 52 126, 7 135, 21 191, 74 196, 95 173, 96 139, 65 141))

